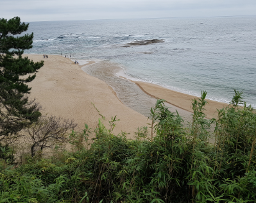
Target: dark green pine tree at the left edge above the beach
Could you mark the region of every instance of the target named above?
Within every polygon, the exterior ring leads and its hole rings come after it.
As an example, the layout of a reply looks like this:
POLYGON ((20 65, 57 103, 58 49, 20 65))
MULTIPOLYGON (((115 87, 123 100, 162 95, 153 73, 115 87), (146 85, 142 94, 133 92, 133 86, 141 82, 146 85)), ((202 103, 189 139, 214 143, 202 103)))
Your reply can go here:
POLYGON ((33 44, 33 33, 21 35, 28 26, 19 17, 0 19, 0 141, 40 117, 40 107, 28 98, 31 88, 26 84, 35 79, 44 61, 22 58, 33 44))

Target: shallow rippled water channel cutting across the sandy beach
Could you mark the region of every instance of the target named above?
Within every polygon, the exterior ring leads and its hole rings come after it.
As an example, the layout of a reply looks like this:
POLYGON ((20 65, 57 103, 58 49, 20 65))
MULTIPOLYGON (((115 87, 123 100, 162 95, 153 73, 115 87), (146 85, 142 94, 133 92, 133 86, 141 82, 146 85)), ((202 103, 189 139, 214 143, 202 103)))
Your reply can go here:
MULTIPOLYGON (((139 86, 129 80, 134 78, 124 79, 122 76, 117 76, 117 73, 120 74, 120 72, 123 72, 123 69, 118 64, 110 63, 110 61, 97 61, 96 63, 82 67, 82 70, 91 76, 105 81, 116 92, 118 99, 123 104, 146 117, 150 117, 150 109, 155 106, 157 99, 146 94, 139 86)), ((191 122, 191 112, 168 103, 166 103, 166 106, 172 112, 177 110, 183 117, 183 120, 185 120, 185 124, 191 122)))

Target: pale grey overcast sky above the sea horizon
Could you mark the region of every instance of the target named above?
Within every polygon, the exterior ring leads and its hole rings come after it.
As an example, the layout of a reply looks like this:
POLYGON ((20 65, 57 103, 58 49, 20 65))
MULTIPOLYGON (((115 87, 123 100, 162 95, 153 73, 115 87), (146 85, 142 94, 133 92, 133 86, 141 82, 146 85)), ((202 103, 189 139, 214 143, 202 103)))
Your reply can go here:
POLYGON ((256 0, 0 0, 0 18, 22 21, 256 15, 256 0))

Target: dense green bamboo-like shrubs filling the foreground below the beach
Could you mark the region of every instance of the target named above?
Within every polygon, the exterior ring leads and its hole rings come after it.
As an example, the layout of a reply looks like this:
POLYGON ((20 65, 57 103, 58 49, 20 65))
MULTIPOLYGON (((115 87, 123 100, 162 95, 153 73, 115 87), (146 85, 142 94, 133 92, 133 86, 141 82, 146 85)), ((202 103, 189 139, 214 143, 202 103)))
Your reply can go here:
POLYGON ((34 156, 13 166, 10 148, 1 147, 0 202, 255 202, 255 112, 238 106, 236 92, 216 120, 206 120, 205 95, 192 102, 189 128, 159 100, 149 138, 146 127, 136 140, 115 136, 112 118, 109 129, 99 121, 90 146, 85 126, 69 135, 76 150, 56 147, 47 159, 34 156))

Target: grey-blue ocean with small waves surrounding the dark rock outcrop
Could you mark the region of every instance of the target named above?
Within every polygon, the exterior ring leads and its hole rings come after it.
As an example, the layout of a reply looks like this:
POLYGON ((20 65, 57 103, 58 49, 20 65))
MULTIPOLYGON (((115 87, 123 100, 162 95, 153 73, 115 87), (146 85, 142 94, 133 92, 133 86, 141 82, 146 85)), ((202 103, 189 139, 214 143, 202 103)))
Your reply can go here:
POLYGON ((30 22, 31 32, 26 53, 113 63, 127 77, 196 96, 205 90, 214 101, 230 102, 236 89, 256 108, 256 16, 30 22), (124 47, 148 39, 164 42, 124 47))

